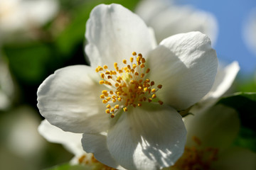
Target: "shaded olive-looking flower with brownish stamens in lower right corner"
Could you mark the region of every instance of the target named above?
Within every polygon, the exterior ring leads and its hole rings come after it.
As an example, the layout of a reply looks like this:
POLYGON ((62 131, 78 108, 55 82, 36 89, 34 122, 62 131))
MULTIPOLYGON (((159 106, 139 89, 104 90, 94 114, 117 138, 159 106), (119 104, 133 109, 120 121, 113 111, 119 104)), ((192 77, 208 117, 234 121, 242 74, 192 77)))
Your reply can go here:
POLYGON ((255 153, 232 145, 240 128, 238 113, 233 108, 217 105, 201 114, 187 117, 193 118, 186 121, 188 135, 185 152, 169 169, 256 168, 255 153))

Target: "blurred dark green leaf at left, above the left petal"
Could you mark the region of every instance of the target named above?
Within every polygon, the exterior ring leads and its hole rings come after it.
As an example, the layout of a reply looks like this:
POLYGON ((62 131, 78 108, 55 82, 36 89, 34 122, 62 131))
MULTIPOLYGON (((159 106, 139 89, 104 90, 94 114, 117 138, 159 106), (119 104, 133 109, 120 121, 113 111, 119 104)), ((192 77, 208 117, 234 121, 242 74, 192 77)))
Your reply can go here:
POLYGON ((51 49, 42 42, 24 42, 4 46, 4 53, 16 78, 33 84, 46 74, 51 49))

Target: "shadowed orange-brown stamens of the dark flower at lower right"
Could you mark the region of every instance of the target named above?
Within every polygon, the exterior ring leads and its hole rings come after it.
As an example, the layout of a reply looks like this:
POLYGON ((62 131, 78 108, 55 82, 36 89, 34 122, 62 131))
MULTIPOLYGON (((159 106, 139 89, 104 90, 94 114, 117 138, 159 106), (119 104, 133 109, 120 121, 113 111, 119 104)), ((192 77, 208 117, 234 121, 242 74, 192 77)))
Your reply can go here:
POLYGON ((201 148, 201 140, 193 137, 196 147, 185 147, 184 153, 174 164, 175 169, 213 170, 210 165, 218 159, 218 149, 213 147, 201 148))

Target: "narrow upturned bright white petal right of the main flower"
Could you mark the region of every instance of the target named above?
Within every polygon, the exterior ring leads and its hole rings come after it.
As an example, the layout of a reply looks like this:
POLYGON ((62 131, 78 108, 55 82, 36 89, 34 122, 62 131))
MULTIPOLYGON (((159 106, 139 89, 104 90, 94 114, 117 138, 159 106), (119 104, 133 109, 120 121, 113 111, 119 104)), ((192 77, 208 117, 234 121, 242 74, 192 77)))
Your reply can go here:
POLYGON ((239 69, 238 62, 233 62, 223 69, 218 69, 212 89, 202 98, 201 102, 207 102, 223 96, 233 84, 239 69))

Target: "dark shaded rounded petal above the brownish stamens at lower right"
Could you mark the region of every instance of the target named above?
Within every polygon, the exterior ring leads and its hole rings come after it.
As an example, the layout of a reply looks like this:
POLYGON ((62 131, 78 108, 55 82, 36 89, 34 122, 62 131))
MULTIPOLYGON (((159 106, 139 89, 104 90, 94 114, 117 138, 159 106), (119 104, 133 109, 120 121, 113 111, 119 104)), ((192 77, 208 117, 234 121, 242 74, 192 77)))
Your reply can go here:
POLYGON ((225 149, 238 135, 240 120, 238 113, 223 105, 213 106, 203 113, 195 113, 184 118, 187 135, 187 146, 196 145, 193 137, 201 140, 204 147, 225 149))

